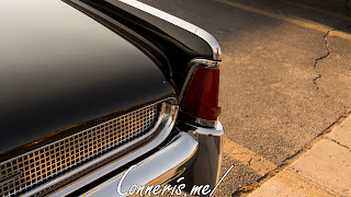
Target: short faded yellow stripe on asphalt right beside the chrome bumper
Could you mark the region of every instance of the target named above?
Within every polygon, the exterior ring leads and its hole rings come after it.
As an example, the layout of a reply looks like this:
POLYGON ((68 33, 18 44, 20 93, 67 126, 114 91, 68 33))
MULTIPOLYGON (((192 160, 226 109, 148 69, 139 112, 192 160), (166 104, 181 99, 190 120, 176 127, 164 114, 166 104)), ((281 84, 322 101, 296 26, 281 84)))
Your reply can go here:
POLYGON ((228 138, 224 138, 224 152, 231 159, 249 166, 261 176, 265 175, 269 171, 276 167, 274 163, 258 155, 249 149, 239 146, 228 138))

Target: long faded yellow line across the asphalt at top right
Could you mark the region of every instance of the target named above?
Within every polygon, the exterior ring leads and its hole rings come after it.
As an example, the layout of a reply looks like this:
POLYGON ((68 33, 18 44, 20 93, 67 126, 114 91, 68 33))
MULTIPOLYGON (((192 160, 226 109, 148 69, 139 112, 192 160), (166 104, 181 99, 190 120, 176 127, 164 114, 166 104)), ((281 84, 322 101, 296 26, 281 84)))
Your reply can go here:
MULTIPOLYGON (((252 8, 252 7, 249 7, 249 5, 246 5, 246 4, 241 4, 241 3, 238 3, 238 2, 234 2, 234 1, 229 1, 229 0, 215 0, 215 1, 217 1, 219 3, 223 3, 223 4, 228 4, 228 5, 245 10, 245 11, 249 11, 249 12, 253 12, 253 13, 257 13, 257 14, 265 15, 265 16, 269 16, 269 18, 273 18, 273 19, 276 19, 276 20, 280 20, 280 21, 284 21, 284 22, 287 22, 287 23, 292 23, 292 24, 295 24, 295 25, 298 25, 298 26, 303 26, 303 27, 315 30, 315 31, 322 32, 322 33, 327 33, 328 31, 333 30, 333 27, 321 25, 321 24, 318 24, 318 23, 314 23, 314 22, 310 22, 310 21, 307 21, 307 20, 287 18, 285 15, 271 13, 271 12, 268 12, 268 11, 264 11, 264 10, 260 10, 260 9, 257 9, 257 8, 252 8)), ((344 33, 344 32, 341 32, 341 31, 332 31, 329 35, 351 40, 351 34, 344 33)))

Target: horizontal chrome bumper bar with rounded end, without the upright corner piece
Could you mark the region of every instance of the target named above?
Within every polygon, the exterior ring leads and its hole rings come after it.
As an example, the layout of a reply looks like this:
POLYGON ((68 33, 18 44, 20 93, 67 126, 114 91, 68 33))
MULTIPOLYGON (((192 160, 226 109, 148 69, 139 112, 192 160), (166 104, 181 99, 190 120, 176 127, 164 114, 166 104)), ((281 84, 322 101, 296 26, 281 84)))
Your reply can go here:
POLYGON ((176 138, 162 150, 138 163, 125 176, 123 176, 125 174, 123 172, 84 195, 92 197, 127 196, 134 184, 141 186, 167 182, 170 177, 182 172, 182 169, 189 167, 191 159, 197 151, 199 142, 191 135, 181 132, 176 138), (121 186, 120 195, 117 193, 118 186, 121 186))

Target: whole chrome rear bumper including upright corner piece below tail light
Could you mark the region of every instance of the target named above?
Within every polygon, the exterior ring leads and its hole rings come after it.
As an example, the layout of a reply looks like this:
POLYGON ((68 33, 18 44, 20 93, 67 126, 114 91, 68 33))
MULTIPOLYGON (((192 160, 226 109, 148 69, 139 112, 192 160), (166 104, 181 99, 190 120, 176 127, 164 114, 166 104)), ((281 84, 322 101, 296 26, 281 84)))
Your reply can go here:
MULTIPOLYGON (((182 184, 186 184, 186 186, 208 184, 211 188, 214 188, 218 182, 222 163, 222 136, 224 132, 222 124, 218 121, 216 128, 203 128, 180 123, 176 125, 174 129, 179 129, 179 134, 157 152, 136 163, 133 169, 129 167, 122 173, 116 173, 80 195, 126 196, 133 185, 155 186, 166 184, 179 176, 184 177, 182 184), (121 186, 120 195, 118 185, 121 186)), ((107 167, 113 169, 114 164, 112 163, 107 167)), ((89 176, 97 177, 97 174, 92 173, 89 176)), ((82 186, 79 179, 69 187, 71 188, 73 185, 77 188, 82 186)), ((53 194, 53 196, 65 195, 67 195, 65 188, 53 194)))

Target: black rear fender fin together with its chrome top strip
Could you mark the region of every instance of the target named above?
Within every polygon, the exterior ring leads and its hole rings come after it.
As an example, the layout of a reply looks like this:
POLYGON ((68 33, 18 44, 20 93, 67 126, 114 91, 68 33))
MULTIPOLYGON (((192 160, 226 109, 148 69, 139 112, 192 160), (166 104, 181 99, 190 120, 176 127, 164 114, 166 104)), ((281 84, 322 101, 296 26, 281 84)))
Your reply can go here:
POLYGON ((90 13, 95 20, 97 15, 105 20, 115 20, 159 48, 171 67, 170 73, 180 92, 186 89, 184 81, 189 74, 192 76, 190 72, 194 71, 192 67, 199 65, 197 59, 201 59, 201 63, 206 60, 206 65, 210 66, 222 62, 219 44, 211 34, 143 2, 136 0, 65 0, 65 2, 90 13))

